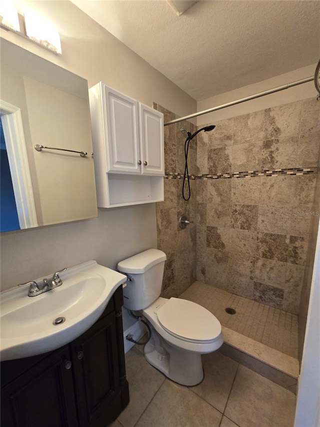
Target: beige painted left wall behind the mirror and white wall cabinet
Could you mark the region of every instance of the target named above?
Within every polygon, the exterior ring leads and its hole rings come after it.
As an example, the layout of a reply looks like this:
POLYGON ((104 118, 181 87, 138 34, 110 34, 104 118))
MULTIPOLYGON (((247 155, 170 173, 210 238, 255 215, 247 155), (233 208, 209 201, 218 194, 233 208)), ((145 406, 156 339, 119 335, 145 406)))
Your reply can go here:
MULTIPOLYGON (((28 2, 54 24, 62 56, 10 32, 1 37, 88 80, 103 81, 152 106, 153 102, 190 114, 196 102, 70 2, 28 2)), ((117 261, 156 247, 155 205, 100 209, 99 218, 1 235, 1 289, 88 259, 111 268, 117 261)))

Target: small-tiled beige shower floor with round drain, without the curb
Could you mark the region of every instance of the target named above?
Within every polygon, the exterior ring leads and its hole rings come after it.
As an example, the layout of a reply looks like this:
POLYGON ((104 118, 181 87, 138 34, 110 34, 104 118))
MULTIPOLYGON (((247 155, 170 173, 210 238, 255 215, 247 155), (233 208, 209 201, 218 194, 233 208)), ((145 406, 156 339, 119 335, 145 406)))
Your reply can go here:
POLYGON ((201 282, 194 282, 180 298, 202 305, 223 326, 297 358, 298 322, 295 314, 201 282), (234 308, 236 314, 227 314, 225 307, 234 308))

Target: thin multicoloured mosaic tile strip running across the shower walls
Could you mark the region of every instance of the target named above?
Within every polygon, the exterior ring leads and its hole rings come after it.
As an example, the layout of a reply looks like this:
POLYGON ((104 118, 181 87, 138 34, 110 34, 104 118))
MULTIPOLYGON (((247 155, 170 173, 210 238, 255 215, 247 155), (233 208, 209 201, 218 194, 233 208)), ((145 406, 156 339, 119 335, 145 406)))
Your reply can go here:
MULTIPOLYGON (((274 170, 226 172, 225 174, 202 174, 189 175, 189 179, 224 179, 224 178, 254 178, 259 176, 279 176, 279 175, 310 175, 317 173, 317 168, 284 168, 274 170)), ((165 173, 165 179, 183 179, 183 174, 165 173)))

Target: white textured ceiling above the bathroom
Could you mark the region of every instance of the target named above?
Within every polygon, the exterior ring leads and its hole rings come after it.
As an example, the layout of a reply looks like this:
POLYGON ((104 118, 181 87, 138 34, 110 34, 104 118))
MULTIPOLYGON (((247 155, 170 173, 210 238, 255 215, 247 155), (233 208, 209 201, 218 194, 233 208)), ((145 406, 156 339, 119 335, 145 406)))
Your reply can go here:
POLYGON ((319 1, 207 0, 179 17, 165 0, 72 3, 197 101, 320 57, 319 1))

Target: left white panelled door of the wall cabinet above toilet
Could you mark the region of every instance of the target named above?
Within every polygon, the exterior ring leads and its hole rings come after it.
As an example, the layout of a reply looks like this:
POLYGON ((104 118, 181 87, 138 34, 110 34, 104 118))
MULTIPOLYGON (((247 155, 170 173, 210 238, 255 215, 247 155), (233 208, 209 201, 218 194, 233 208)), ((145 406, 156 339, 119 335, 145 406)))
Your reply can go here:
POLYGON ((140 174, 138 102, 102 84, 107 172, 140 174))

